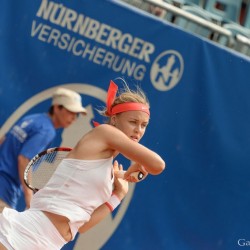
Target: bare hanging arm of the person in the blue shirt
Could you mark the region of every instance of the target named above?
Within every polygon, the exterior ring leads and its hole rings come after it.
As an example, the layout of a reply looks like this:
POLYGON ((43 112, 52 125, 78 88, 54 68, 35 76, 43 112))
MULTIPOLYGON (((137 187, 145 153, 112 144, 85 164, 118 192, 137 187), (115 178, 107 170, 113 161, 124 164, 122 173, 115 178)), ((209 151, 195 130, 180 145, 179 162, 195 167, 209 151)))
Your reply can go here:
POLYGON ((24 193, 26 208, 30 207, 30 201, 33 196, 33 191, 29 189, 24 182, 24 170, 26 166, 28 165, 28 163, 29 163, 28 158, 24 157, 23 155, 18 156, 18 173, 19 173, 19 179, 20 179, 20 183, 22 185, 22 189, 24 193))

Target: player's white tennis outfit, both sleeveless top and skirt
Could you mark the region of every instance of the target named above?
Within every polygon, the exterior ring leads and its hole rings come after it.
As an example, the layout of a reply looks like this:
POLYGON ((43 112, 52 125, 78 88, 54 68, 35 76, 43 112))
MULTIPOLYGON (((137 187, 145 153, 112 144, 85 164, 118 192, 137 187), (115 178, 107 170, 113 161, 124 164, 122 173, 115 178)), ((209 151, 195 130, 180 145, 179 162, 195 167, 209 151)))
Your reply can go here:
POLYGON ((19 213, 4 209, 0 215, 0 242, 13 247, 8 249, 45 250, 48 246, 51 250, 61 249, 65 240, 40 211, 67 217, 74 239, 79 227, 112 194, 112 162, 112 157, 100 160, 64 159, 48 184, 33 196, 29 210, 19 213), (20 225, 22 230, 17 230, 20 225))

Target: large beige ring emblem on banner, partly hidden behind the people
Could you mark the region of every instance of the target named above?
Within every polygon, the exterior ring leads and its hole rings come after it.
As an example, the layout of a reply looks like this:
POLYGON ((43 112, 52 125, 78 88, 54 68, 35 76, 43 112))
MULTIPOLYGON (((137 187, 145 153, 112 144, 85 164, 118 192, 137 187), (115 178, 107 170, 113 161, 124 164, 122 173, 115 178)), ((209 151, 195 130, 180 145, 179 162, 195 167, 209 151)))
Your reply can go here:
MULTIPOLYGON (((50 99, 58 87, 69 88, 80 94, 94 97, 103 102, 106 100, 106 91, 89 84, 65 84, 49 88, 28 99, 7 119, 0 130, 0 138, 7 133, 15 122, 25 115, 30 109, 39 103, 50 99)), ((84 98, 83 106, 85 106, 84 98)), ((88 111, 87 116, 79 116, 77 121, 63 130, 62 145, 73 147, 84 134, 92 129, 91 120, 94 118, 92 105, 88 105, 86 109, 88 111)), ((115 215, 110 214, 94 228, 78 236, 74 245, 74 250, 98 250, 107 242, 124 217, 133 196, 134 188, 135 184, 131 183, 129 193, 121 205, 116 209, 117 211, 115 215)))

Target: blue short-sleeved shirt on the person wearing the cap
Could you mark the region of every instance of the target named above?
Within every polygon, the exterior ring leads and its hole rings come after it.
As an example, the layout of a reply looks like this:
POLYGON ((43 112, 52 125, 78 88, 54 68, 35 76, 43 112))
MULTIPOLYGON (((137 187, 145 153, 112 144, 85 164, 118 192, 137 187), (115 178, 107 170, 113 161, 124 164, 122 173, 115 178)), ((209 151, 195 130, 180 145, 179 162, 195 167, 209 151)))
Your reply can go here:
POLYGON ((49 147, 56 131, 47 114, 33 114, 19 120, 5 136, 0 145, 0 199, 16 208, 22 191, 18 155, 31 159, 49 147))

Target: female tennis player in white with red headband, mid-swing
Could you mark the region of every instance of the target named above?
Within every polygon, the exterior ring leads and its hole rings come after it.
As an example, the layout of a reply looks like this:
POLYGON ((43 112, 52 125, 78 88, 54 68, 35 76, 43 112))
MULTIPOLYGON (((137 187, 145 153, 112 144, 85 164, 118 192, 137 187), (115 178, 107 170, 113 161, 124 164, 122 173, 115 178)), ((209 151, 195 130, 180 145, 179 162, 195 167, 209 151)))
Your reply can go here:
POLYGON ((149 123, 149 103, 140 88, 132 91, 111 81, 107 105, 100 111, 108 123, 84 135, 59 164, 49 182, 35 193, 24 212, 5 208, 0 215, 0 249, 61 249, 112 212, 128 192, 134 172, 160 174, 164 160, 139 141, 149 123), (134 162, 124 180, 113 159, 118 154, 134 162), (112 188, 114 184, 114 189, 112 188))

